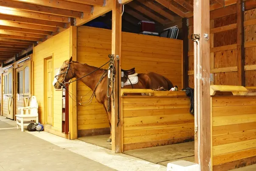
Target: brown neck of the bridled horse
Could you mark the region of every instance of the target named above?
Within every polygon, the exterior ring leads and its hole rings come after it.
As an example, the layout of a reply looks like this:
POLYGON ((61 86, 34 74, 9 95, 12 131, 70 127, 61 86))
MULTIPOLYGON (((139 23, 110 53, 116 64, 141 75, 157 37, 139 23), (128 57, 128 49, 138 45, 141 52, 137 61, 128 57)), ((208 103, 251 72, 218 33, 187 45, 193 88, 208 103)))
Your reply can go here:
POLYGON ((81 64, 81 63, 73 63, 74 64, 74 75, 76 79, 82 78, 83 76, 87 75, 88 73, 91 73, 84 78, 80 79, 85 85, 87 85, 91 90, 94 90, 96 87, 96 84, 100 80, 103 70, 99 69, 95 71, 97 68, 94 66, 81 64))

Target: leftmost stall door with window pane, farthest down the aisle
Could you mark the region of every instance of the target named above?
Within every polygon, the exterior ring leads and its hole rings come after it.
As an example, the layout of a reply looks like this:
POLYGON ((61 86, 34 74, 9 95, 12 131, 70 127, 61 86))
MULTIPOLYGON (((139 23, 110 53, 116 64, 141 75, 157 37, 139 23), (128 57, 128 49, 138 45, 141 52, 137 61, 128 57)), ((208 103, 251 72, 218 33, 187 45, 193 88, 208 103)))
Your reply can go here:
POLYGON ((3 73, 3 116, 14 119, 13 68, 3 73))

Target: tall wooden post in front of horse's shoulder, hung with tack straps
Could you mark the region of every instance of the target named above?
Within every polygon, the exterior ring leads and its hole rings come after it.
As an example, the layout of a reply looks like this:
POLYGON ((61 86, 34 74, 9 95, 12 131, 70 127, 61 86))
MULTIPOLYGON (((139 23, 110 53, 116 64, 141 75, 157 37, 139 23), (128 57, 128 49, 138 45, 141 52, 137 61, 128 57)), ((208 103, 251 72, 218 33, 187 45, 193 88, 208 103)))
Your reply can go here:
MULTIPOLYGON (((122 4, 118 0, 113 0, 112 9, 112 54, 115 57, 115 84, 114 84, 114 103, 112 105, 111 131, 112 131, 112 152, 121 152, 121 121, 118 121, 118 115, 121 116, 121 35, 122 35, 122 4), (119 62, 117 57, 119 56, 119 62), (119 123, 118 123, 119 122, 119 123), (118 126, 117 126, 118 124, 118 126)), ((112 99, 113 104, 113 99, 112 99)))

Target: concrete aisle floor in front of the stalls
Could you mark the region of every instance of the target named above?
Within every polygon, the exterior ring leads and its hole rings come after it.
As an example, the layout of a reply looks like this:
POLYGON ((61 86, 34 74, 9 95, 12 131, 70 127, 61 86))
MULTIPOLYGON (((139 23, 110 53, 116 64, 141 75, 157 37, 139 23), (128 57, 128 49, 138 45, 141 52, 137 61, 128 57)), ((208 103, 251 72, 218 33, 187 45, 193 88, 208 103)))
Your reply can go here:
POLYGON ((15 121, 0 116, 0 171, 34 170, 166 171, 166 167, 45 131, 21 132, 15 121))

